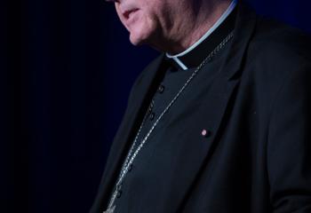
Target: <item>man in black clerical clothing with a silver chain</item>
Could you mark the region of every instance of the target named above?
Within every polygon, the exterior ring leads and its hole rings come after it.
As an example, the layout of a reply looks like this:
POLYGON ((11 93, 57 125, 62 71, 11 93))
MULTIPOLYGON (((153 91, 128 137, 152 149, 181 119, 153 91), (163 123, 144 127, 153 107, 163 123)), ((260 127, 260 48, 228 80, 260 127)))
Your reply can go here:
POLYGON ((119 0, 139 76, 91 212, 311 212, 308 38, 230 0, 119 0))

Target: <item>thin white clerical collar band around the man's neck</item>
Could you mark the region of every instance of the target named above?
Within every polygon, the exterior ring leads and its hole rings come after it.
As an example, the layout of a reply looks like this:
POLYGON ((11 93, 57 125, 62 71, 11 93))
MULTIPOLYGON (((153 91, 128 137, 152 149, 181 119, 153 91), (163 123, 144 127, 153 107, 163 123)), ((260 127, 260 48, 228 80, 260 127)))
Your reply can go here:
POLYGON ((196 46, 198 46, 200 43, 202 43, 208 36, 211 35, 212 32, 215 31, 216 28, 219 27, 219 25, 227 19, 228 15, 235 9, 235 5, 237 4, 237 0, 233 0, 232 3, 227 7, 227 10, 220 16, 219 20, 211 26, 211 28, 194 44, 192 44, 189 48, 187 48, 186 51, 182 51, 179 54, 176 55, 170 55, 169 53, 166 52, 166 57, 169 59, 174 59, 179 66, 186 70, 187 66, 182 63, 182 61, 179 59, 179 57, 186 55, 189 51, 192 51, 195 49, 196 46))

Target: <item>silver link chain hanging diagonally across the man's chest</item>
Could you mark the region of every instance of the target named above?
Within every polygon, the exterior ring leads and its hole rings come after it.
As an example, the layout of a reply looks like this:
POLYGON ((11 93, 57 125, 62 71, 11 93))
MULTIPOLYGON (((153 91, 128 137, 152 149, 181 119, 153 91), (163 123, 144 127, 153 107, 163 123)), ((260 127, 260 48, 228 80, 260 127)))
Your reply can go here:
MULTIPOLYGON (((219 43, 219 45, 213 50, 211 51, 211 53, 203 60, 203 62, 199 65, 199 67, 196 67, 195 71, 192 73, 192 75, 190 75, 190 77, 187 79, 187 82, 181 87, 181 89, 179 90, 179 92, 175 95, 175 97, 173 99, 171 99, 171 102, 169 103, 168 106, 165 107, 165 109, 163 110, 162 114, 160 114, 160 116, 156 119, 156 122, 154 122, 154 124, 152 125, 152 127, 150 128, 150 130, 148 131, 147 135, 145 136, 145 138, 143 138, 143 140, 140 143, 140 146, 137 147, 137 149, 134 151, 134 147, 137 144, 137 140, 140 136, 140 131, 142 129, 142 127, 144 126, 144 123, 146 121, 147 118, 147 114, 145 115, 143 121, 140 124, 140 129, 137 132, 137 135, 134 139, 134 142, 132 144, 132 147, 129 151, 129 154, 127 154, 127 157, 124 161, 124 164, 122 166, 120 175, 118 177, 118 180, 116 182, 116 189, 114 191, 114 193, 112 194, 109 204, 108 204, 108 210, 104 211, 105 212, 109 212, 109 209, 115 209, 116 207, 113 207, 115 201, 116 201, 116 196, 119 190, 120 185, 122 184, 125 175, 127 174, 127 172, 129 171, 132 162, 134 162, 137 154, 140 153, 140 149, 146 144, 150 134, 153 132, 153 130, 155 130, 157 123, 162 119, 163 115, 167 113, 167 111, 171 108, 171 106, 175 103, 176 99, 179 98, 180 94, 186 89, 187 85, 193 80, 193 78, 195 77, 195 75, 197 75, 197 73, 202 69, 202 67, 211 60, 211 58, 218 52, 220 51, 225 44, 233 37, 233 32, 231 32, 221 43, 219 43), (133 154, 132 154, 133 153, 133 154)), ((113 211, 112 211, 113 212, 113 211)))

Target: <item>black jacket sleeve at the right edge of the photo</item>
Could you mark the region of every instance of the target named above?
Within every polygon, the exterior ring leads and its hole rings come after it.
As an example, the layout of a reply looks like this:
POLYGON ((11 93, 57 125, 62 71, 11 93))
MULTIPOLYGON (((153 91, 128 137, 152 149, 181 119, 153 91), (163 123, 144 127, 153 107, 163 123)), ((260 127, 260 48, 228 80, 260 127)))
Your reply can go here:
POLYGON ((283 81, 272 106, 267 174, 273 212, 311 212, 311 66, 283 81))

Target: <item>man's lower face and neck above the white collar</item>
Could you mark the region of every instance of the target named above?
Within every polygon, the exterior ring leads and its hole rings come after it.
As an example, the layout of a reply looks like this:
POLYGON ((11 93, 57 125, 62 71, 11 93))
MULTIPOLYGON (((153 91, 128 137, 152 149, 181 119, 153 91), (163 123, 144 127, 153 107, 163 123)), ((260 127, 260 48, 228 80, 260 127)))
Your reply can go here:
POLYGON ((231 0, 114 0, 134 45, 171 55, 187 50, 219 20, 231 0))

